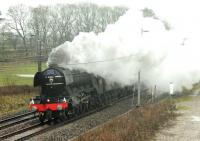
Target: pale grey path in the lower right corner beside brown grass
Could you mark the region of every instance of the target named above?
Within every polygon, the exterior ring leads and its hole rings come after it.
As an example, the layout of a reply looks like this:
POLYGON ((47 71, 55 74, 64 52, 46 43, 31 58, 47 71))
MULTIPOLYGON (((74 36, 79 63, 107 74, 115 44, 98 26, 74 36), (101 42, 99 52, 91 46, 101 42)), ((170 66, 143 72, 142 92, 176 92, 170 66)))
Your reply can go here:
POLYGON ((156 141, 200 141, 200 96, 178 103, 181 115, 156 134, 156 141))

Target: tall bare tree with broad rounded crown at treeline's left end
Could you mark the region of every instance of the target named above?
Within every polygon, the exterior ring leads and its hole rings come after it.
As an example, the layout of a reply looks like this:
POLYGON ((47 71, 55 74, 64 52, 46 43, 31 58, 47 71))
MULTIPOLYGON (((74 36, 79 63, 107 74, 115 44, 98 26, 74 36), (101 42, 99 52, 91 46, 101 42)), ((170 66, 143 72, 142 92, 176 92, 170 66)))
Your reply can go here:
POLYGON ((24 5, 17 5, 10 7, 8 10, 9 23, 8 26, 17 32, 19 37, 23 41, 23 46, 26 50, 26 55, 28 55, 27 47, 27 21, 29 18, 28 8, 24 5))

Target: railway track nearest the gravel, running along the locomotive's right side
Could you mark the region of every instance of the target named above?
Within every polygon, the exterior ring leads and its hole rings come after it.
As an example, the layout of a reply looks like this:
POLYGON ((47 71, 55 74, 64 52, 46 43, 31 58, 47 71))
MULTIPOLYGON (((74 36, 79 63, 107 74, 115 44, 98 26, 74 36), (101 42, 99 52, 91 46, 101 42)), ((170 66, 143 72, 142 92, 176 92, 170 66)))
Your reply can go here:
POLYGON ((125 99, 128 99, 130 98, 131 96, 126 96, 126 97, 123 97, 123 98, 120 98, 120 99, 117 99, 113 102, 111 102, 109 105, 104 105, 104 106, 101 106, 100 108, 97 108, 97 109, 94 109, 94 110, 91 110, 89 112, 86 112, 86 113, 83 113, 81 115, 78 115, 78 116, 75 116, 75 117, 72 117, 68 120, 65 120, 61 123, 56 123, 54 125, 49 125, 47 124, 47 122, 44 122, 43 124, 41 123, 36 123, 30 127, 26 127, 26 128, 23 128, 23 129, 20 129, 20 130, 17 130, 15 132, 12 132, 12 133, 9 133, 9 134, 6 134, 6 135, 3 135, 0 137, 0 140, 15 140, 15 141, 23 141, 23 140, 28 140, 30 139, 31 137, 34 137, 34 136, 37 136, 37 135, 40 135, 42 133, 45 133, 45 132, 48 132, 48 131, 51 131, 55 128, 58 128, 58 127, 61 127, 63 125, 66 125, 66 124, 69 124, 69 123, 72 123, 76 120, 79 120, 83 117, 86 117, 90 114, 94 114, 98 111, 101 111, 107 107, 110 107, 111 105, 114 105, 115 103, 117 102, 120 102, 122 100, 125 100, 125 99))

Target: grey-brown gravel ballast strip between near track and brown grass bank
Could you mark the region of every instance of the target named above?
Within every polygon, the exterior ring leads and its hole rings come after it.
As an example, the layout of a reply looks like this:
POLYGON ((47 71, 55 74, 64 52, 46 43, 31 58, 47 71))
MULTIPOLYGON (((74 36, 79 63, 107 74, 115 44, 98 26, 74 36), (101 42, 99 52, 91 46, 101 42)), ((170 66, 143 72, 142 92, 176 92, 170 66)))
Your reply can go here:
POLYGON ((74 123, 67 124, 48 133, 29 139, 31 141, 66 141, 76 137, 88 129, 94 128, 131 108, 131 100, 121 101, 98 113, 84 117, 74 123))

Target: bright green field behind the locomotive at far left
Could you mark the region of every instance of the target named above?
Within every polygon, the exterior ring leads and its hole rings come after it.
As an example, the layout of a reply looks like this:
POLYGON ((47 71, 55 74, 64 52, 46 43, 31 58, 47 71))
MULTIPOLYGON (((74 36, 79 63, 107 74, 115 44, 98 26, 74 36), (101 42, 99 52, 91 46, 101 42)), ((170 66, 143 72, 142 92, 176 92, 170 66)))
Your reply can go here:
MULTIPOLYGON (((47 68, 42 64, 42 68, 47 68)), ((7 85, 32 85, 33 78, 19 77, 17 74, 35 74, 37 72, 37 63, 4 63, 0 64, 0 86, 7 85)))

